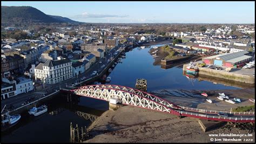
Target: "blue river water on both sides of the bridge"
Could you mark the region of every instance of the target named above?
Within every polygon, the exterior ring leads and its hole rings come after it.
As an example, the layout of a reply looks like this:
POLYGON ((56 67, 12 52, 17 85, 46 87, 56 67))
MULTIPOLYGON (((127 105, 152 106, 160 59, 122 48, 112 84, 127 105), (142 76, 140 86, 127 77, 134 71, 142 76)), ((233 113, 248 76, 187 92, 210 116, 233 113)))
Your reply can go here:
MULTIPOLYGON (((160 45, 156 45, 160 46, 160 45)), ((240 89, 223 84, 214 84, 198 79, 188 79, 183 75, 182 68, 161 69, 153 66, 154 59, 149 54, 150 48, 136 47, 126 53, 122 63, 118 63, 109 74, 109 84, 135 87, 137 78, 147 80, 147 91, 159 89, 185 89, 185 90, 210 90, 210 89, 240 89)), ((45 102, 48 112, 38 117, 22 113, 19 123, 5 133, 1 133, 1 142, 69 142, 70 123, 78 126, 89 126, 93 120, 85 119, 80 114, 100 116, 109 110, 108 102, 80 97, 67 103, 67 100, 55 96, 45 102)))

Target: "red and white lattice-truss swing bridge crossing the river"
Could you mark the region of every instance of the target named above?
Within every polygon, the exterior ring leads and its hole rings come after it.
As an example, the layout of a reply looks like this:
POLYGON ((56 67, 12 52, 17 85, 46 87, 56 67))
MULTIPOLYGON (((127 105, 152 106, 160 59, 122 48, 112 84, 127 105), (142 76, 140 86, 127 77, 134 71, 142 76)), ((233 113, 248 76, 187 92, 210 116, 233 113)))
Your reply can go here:
MULTIPOLYGON (((64 89, 60 89, 65 91, 64 89)), ((179 117, 193 117, 207 120, 218 121, 231 121, 231 122, 246 122, 254 123, 254 112, 226 112, 228 117, 221 117, 219 112, 215 110, 204 110, 192 107, 179 106, 163 98, 159 98, 150 93, 133 89, 130 87, 124 87, 121 85, 87 85, 79 87, 77 89, 69 90, 68 92, 74 93, 79 96, 91 97, 96 99, 110 101, 111 98, 118 98, 119 102, 125 105, 133 105, 142 107, 144 109, 151 109, 161 112, 177 115, 179 117)))

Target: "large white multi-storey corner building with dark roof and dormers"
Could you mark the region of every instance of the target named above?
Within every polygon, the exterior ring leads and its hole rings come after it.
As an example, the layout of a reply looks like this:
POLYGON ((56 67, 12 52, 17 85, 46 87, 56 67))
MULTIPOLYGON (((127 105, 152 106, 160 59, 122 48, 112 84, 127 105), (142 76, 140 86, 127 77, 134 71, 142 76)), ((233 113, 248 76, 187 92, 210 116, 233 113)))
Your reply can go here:
POLYGON ((41 80, 48 84, 54 84, 72 77, 72 63, 69 59, 57 61, 47 60, 39 63, 35 68, 36 80, 41 80))

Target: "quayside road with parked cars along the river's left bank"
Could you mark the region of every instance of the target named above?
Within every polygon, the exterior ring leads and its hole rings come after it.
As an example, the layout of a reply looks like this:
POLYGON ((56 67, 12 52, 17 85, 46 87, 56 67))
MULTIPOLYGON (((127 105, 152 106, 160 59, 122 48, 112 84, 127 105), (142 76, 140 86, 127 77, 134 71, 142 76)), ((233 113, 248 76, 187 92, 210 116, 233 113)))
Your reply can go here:
MULTIPOLYGON (((72 83, 75 83, 76 81, 79 81, 80 78, 82 77, 86 77, 86 80, 88 80, 91 77, 94 77, 96 75, 90 76, 90 74, 93 71, 98 71, 98 74, 103 71, 105 69, 105 67, 107 66, 107 64, 111 63, 111 56, 117 56, 114 55, 114 53, 120 49, 120 51, 122 50, 121 46, 117 46, 117 47, 113 47, 106 55, 105 57, 103 57, 102 59, 98 60, 95 64, 93 64, 89 69, 87 69, 84 73, 77 75, 76 77, 72 77, 69 78, 67 80, 64 80, 62 82, 59 83, 55 83, 55 84, 43 84, 42 82, 39 82, 39 85, 35 85, 35 89, 32 91, 29 91, 27 93, 22 93, 20 95, 11 97, 11 98, 7 98, 7 99, 3 99, 1 100, 1 111, 3 110, 4 105, 6 105, 6 108, 11 111, 14 109, 17 109, 18 107, 21 107, 22 105, 24 105, 23 103, 26 102, 27 99, 34 97, 34 100, 40 99, 44 96, 50 95, 50 93, 55 92, 57 90, 59 90, 59 88, 66 88, 66 86, 71 86, 72 83), (110 60, 109 63, 107 63, 107 60, 110 60), (102 61, 102 63, 99 63, 99 61, 102 61), (100 66, 102 66, 103 64, 105 64, 105 67, 100 68, 100 66), (42 92, 46 92, 44 95, 39 94, 42 92), (12 105, 12 106, 10 106, 12 105)), ((119 51, 119 52, 120 52, 119 51)), ((113 59, 112 59, 113 60, 113 59)), ((82 86, 82 85, 79 85, 82 86)), ((32 102, 32 101, 31 101, 32 102)))

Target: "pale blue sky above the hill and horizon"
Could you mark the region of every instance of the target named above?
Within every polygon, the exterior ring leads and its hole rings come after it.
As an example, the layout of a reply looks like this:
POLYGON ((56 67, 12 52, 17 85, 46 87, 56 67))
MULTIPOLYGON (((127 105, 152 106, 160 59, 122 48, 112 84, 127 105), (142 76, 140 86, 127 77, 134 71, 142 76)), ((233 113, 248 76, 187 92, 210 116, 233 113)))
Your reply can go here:
POLYGON ((254 24, 255 2, 8 2, 86 23, 254 24))

